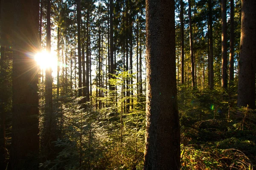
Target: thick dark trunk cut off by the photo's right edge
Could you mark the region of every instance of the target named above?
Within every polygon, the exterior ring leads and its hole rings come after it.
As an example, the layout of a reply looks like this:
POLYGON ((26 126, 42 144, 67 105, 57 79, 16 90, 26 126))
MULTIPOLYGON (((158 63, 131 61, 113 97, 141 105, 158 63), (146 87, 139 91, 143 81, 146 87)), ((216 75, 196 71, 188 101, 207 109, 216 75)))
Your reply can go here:
POLYGON ((241 0, 241 42, 238 77, 238 106, 255 109, 256 1, 241 0))

